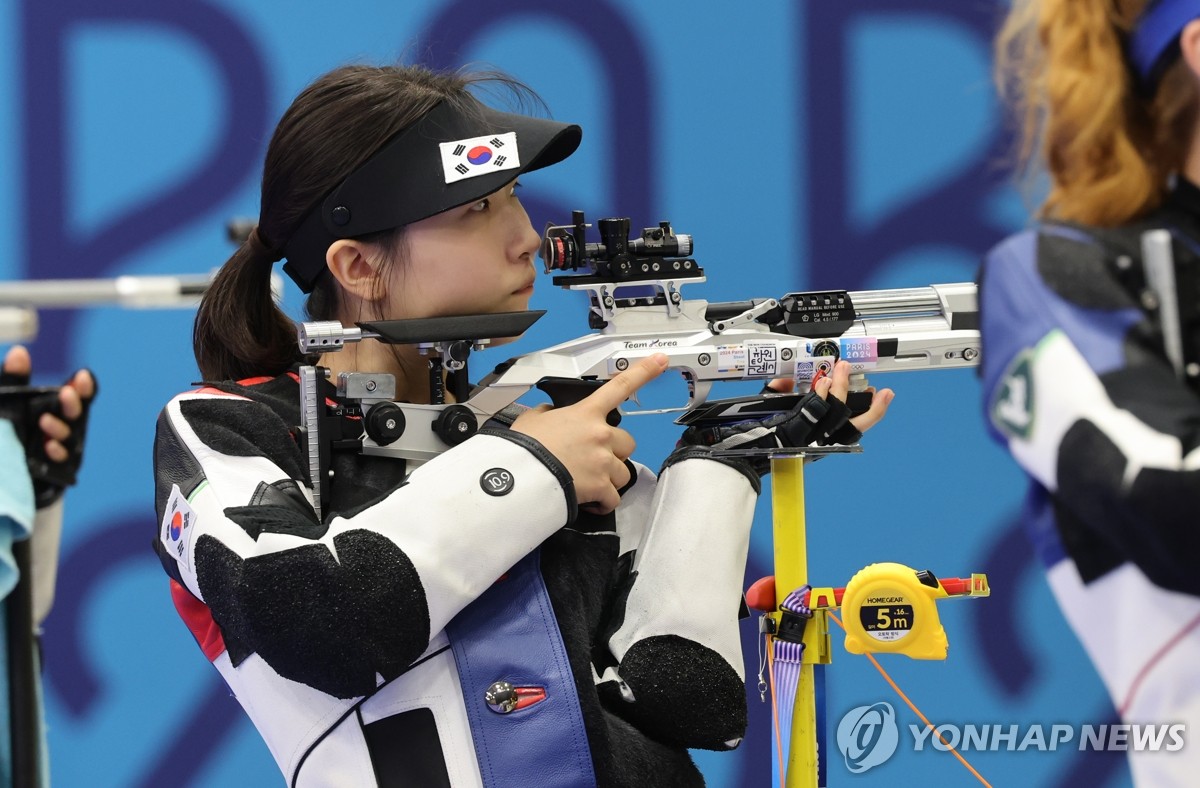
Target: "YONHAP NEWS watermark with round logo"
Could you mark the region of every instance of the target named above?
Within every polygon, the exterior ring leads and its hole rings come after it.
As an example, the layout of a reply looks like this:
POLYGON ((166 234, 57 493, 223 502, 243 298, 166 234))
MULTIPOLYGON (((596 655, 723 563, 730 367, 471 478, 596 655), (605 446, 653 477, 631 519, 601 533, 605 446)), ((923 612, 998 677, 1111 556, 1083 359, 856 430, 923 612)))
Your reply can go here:
POLYGON ((1178 752, 1187 726, 1176 723, 924 723, 901 726, 890 703, 857 706, 838 723, 838 750, 854 774, 887 762, 901 747, 920 752, 1178 752))

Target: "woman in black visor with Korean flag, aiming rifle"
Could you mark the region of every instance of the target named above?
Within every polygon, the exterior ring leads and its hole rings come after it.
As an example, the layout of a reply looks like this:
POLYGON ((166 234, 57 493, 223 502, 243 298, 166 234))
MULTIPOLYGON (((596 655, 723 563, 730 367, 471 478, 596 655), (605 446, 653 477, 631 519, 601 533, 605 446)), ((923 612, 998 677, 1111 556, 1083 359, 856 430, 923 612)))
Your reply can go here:
MULTIPOLYGON (((258 228, 197 315, 212 383, 158 421, 156 547, 289 784, 698 786, 686 750, 733 747, 745 727, 737 618, 760 475, 709 445, 683 445, 659 476, 630 461, 605 416, 662 356, 415 470, 338 453, 314 513, 275 260, 313 319, 529 302, 539 236, 516 178, 581 131, 491 109, 474 82, 344 67, 283 115, 258 228)), ((397 399, 428 402, 413 348, 362 342, 319 362, 392 373, 397 399)), ((691 434, 856 440, 892 393, 848 419, 847 379, 839 367, 785 419, 691 434)))

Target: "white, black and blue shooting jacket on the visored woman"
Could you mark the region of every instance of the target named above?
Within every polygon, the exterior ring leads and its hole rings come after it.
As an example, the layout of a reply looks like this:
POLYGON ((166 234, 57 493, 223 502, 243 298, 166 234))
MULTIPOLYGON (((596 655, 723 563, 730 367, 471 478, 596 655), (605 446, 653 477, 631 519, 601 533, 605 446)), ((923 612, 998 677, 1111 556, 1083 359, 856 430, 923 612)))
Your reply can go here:
POLYGON ((294 374, 206 386, 155 441, 174 602, 289 786, 588 784, 551 735, 598 786, 703 784, 686 748, 746 723, 752 471, 700 449, 634 464, 594 516, 539 443, 490 425, 408 474, 336 452, 318 519, 299 398, 294 374), (541 619, 521 583, 544 585, 541 619), (538 667, 556 634, 565 684, 538 667), (506 714, 502 680, 523 697, 506 714))

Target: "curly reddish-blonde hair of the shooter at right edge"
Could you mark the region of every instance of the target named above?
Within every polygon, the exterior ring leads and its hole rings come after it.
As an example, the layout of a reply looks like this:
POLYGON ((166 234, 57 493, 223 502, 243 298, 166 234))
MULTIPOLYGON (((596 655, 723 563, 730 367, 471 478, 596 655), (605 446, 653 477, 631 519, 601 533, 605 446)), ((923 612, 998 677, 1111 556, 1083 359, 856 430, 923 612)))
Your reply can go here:
POLYGON ((1044 170, 1044 218, 1098 227, 1154 209, 1187 156, 1198 91, 1183 62, 1139 92, 1124 43, 1147 0, 1014 0, 996 83, 1018 122, 1019 170, 1044 170))

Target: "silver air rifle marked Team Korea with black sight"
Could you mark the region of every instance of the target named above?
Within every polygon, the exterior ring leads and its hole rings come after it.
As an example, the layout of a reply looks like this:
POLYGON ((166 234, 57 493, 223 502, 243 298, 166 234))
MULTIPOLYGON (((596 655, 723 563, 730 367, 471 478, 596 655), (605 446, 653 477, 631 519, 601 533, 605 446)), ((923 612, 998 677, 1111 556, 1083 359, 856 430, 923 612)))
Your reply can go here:
MULTIPOLYGON (((979 319, 973 283, 893 290, 821 290, 779 299, 714 302, 688 300, 686 284, 704 282, 691 257, 690 235, 668 222, 630 239, 628 218, 598 222, 600 242, 588 242, 581 211, 572 223, 550 225, 540 257, 553 283, 588 295, 592 333, 510 359, 472 387, 467 361, 494 338, 523 333, 544 312, 385 320, 346 327, 337 321, 299 326, 306 355, 340 350, 348 342, 410 344, 428 360, 430 404, 394 402, 390 374, 341 373, 340 403, 318 393, 323 367, 301 367, 301 432, 313 492, 320 501, 329 452, 426 462, 461 444, 479 425, 529 392, 546 392, 556 407, 577 402, 640 359, 666 354, 668 371, 688 386, 686 404, 626 415, 682 411, 679 423, 760 419, 788 410, 814 378, 839 359, 851 363, 851 389, 866 389, 868 373, 970 367, 979 362, 979 319), (724 380, 792 378, 796 393, 709 401, 724 380), (452 402, 448 402, 448 391, 452 402), (341 419, 360 415, 361 422, 341 419), (350 423, 361 423, 354 434, 350 423), (347 434, 347 429, 349 433, 347 434)), ((852 395, 853 396, 853 395, 852 395)), ((856 403, 851 402, 854 409, 856 403)))

